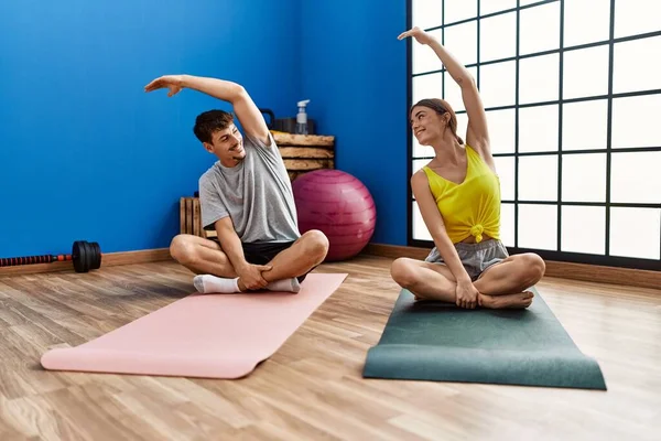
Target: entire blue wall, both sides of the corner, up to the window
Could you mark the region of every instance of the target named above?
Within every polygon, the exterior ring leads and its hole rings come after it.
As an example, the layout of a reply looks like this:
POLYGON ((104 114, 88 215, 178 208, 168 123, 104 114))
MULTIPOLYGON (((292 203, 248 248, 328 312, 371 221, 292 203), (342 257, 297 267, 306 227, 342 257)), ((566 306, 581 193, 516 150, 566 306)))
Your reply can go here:
POLYGON ((403 0, 0 2, 0 257, 169 245, 215 160, 195 116, 228 108, 144 94, 176 73, 237 80, 279 117, 311 98, 376 200, 372 241, 405 244, 404 26, 403 0))

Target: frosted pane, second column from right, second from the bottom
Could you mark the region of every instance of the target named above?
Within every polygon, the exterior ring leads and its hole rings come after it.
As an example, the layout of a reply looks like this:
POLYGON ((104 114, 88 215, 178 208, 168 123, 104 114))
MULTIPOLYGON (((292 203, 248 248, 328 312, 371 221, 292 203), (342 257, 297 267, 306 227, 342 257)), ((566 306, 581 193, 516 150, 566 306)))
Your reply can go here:
POLYGON ((606 154, 562 157, 562 201, 606 202, 606 154))

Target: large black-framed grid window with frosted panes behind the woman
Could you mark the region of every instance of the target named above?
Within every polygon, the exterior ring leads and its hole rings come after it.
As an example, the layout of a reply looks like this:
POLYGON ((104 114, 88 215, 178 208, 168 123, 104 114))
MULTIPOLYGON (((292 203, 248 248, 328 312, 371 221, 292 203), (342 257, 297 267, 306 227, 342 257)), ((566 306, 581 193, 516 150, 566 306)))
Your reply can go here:
MULTIPOLYGON (((410 0, 477 80, 511 254, 661 270, 661 3, 658 0, 410 0)), ((409 104, 460 90, 410 42, 409 104)), ((411 173, 434 154, 410 139, 411 173)), ((410 176, 409 176, 410 178, 410 176)), ((433 246, 409 195, 409 245, 433 246)))

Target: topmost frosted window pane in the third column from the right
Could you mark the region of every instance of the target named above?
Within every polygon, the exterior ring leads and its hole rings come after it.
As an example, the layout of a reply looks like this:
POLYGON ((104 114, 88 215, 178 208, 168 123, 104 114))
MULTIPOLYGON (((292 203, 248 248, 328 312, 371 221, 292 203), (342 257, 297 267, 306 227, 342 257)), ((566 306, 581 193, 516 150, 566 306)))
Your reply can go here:
POLYGON ((560 2, 521 10, 519 29, 519 54, 559 49, 560 2))

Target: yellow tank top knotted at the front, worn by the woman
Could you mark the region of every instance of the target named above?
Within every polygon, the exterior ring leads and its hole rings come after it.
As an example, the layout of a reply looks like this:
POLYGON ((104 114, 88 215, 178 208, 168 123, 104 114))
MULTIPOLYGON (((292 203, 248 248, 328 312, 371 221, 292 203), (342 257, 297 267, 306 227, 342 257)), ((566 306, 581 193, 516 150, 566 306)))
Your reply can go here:
POLYGON ((500 180, 468 144, 466 155, 466 179, 460 184, 423 166, 447 235, 453 244, 472 235, 479 243, 483 234, 500 239, 500 180))

